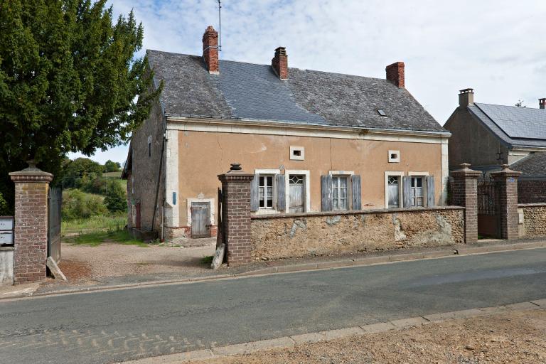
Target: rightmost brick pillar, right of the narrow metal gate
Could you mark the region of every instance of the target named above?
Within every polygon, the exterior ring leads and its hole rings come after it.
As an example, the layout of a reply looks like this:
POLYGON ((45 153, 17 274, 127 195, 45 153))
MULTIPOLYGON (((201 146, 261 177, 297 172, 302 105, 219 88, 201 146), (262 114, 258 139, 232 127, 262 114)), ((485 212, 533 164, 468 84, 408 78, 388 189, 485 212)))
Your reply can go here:
POLYGON ((498 191, 501 239, 518 239, 518 178, 521 172, 512 171, 508 164, 503 170, 491 173, 498 191))

